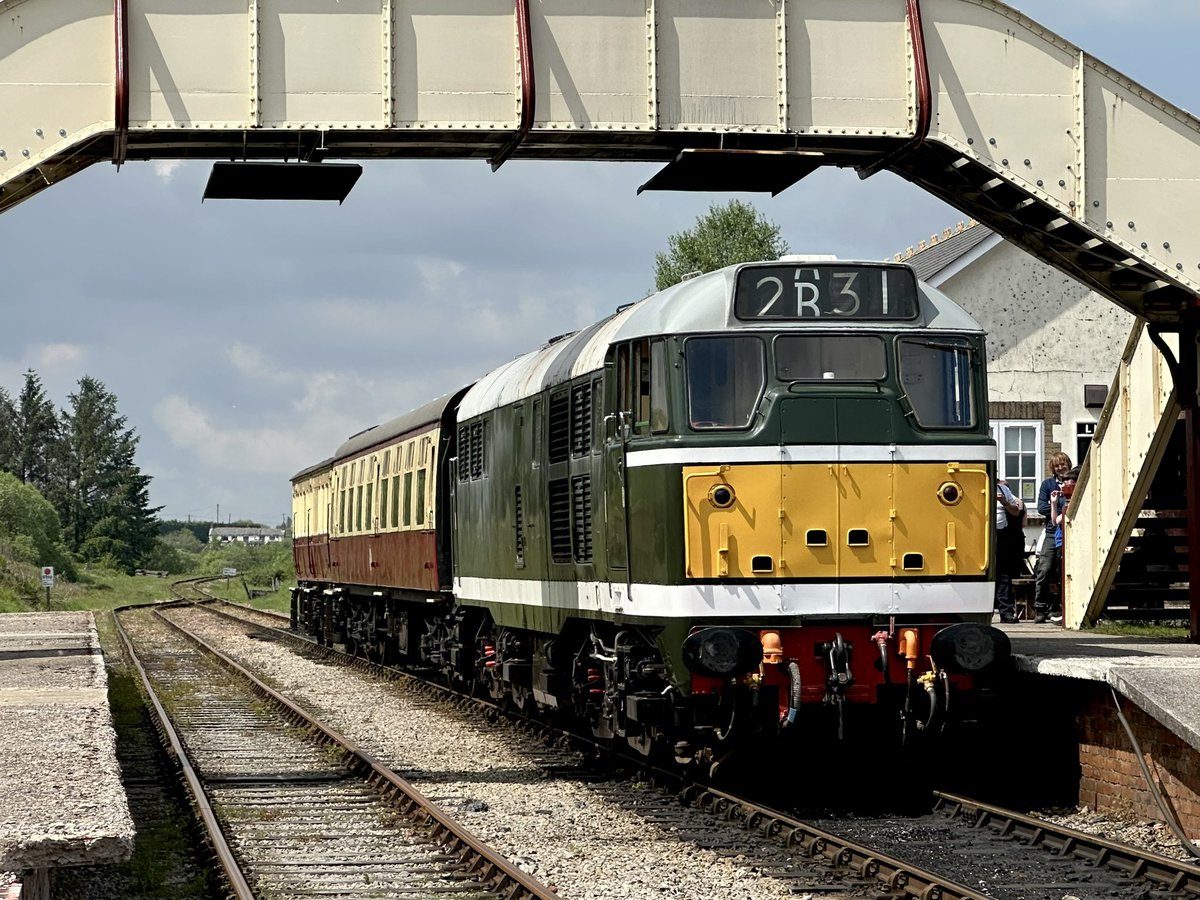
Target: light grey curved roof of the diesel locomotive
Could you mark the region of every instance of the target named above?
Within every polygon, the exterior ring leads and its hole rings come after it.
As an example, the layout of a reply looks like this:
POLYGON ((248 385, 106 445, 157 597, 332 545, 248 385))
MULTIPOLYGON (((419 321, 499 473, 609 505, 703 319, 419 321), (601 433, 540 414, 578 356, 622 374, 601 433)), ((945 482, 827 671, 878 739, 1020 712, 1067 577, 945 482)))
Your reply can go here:
MULTIPOLYGON (((804 264, 804 258, 787 257, 788 264, 804 264)), ((829 257, 812 257, 809 262, 828 263, 829 257)), ((898 263, 838 260, 841 264, 905 268, 898 263)), ((761 322, 742 322, 733 317, 733 286, 737 272, 746 265, 779 265, 778 262, 746 263, 726 266, 706 275, 679 282, 644 300, 631 304, 594 325, 552 341, 539 350, 518 356, 494 368, 467 391, 458 407, 460 421, 472 419, 488 409, 515 403, 546 388, 563 384, 604 367, 608 347, 613 343, 659 335, 686 335, 720 331, 762 331, 761 322)), ((911 331, 914 328, 955 332, 983 332, 983 328, 962 307, 936 288, 918 282, 920 312, 916 320, 838 322, 841 329, 872 331, 911 331)), ((772 330, 811 331, 820 325, 811 319, 770 323, 772 330)), ((341 455, 341 451, 338 451, 341 455)))

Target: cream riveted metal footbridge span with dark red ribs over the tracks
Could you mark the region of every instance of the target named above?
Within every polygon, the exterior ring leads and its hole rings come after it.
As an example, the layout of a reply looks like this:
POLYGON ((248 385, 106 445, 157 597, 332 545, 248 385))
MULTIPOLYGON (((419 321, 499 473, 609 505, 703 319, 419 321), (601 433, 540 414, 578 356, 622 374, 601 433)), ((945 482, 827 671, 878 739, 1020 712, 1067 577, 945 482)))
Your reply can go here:
POLYGON ((887 168, 1195 343, 1200 121, 998 0, 0 12, 0 211, 100 161, 640 160, 650 190, 773 193, 887 168))

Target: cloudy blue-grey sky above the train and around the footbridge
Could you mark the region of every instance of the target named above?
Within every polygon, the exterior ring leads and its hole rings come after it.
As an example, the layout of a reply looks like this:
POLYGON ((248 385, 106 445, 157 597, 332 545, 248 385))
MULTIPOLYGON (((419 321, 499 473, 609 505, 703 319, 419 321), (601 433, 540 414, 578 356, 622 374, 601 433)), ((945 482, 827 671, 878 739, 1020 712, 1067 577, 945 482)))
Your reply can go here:
MULTIPOLYGON (((1016 6, 1200 109, 1196 0, 1016 6)), ((658 164, 367 163, 342 206, 208 202, 209 163, 96 164, 4 214, 0 386, 84 374, 140 436, 167 518, 290 510, 289 476, 653 284, 728 194, 636 196, 658 164)), ((882 259, 965 216, 889 173, 746 196, 793 252, 882 259)))

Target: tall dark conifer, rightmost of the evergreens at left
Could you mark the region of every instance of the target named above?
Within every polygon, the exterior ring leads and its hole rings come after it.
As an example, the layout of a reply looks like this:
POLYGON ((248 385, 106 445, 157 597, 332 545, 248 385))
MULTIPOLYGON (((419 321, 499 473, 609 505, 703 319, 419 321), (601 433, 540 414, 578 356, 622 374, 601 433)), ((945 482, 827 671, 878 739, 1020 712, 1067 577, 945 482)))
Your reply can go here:
POLYGON ((62 414, 64 528, 84 559, 132 571, 154 551, 150 476, 133 461, 138 437, 116 412, 116 397, 84 376, 62 414))

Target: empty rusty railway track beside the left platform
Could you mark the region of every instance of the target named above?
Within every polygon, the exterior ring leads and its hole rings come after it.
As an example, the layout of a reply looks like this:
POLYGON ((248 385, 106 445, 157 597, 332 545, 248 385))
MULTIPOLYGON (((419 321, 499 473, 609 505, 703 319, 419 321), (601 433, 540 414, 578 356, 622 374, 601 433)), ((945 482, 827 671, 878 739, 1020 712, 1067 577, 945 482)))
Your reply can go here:
POLYGON ((118 629, 235 896, 554 896, 158 610, 118 629))

